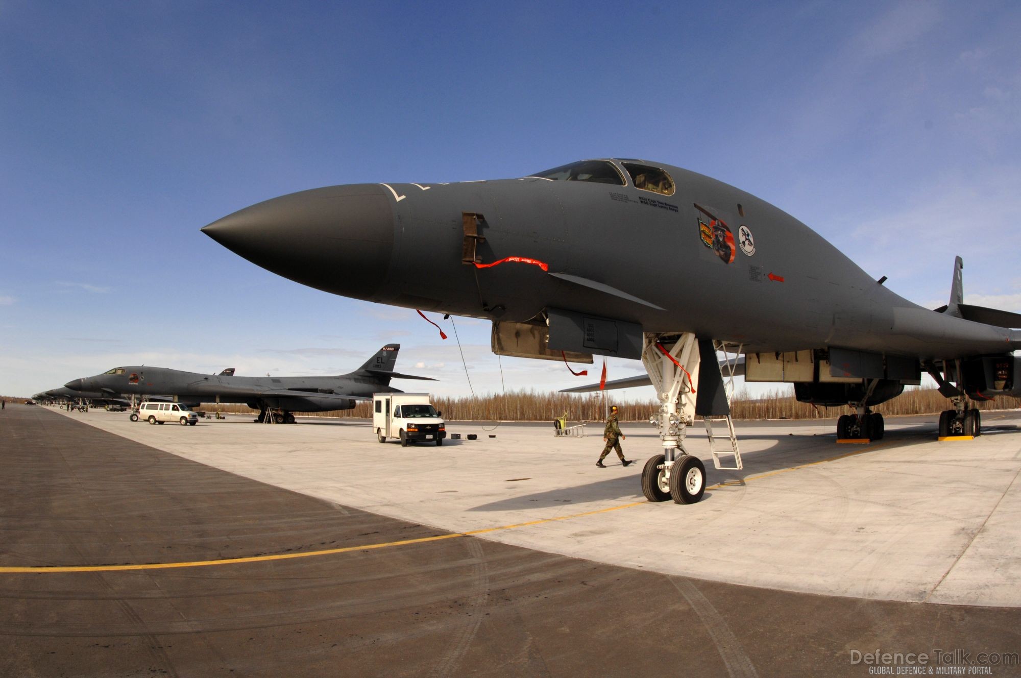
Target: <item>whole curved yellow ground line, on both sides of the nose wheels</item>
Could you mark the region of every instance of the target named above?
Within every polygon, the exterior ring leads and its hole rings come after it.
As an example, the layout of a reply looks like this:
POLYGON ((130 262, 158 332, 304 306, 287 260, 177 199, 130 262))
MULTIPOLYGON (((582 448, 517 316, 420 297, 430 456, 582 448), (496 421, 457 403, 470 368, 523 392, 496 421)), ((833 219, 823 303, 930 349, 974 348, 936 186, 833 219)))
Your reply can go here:
MULTIPOLYGON (((889 446, 893 443, 883 443, 880 445, 870 445, 869 447, 864 447, 862 449, 855 450, 854 452, 847 452, 845 454, 838 454, 836 456, 831 456, 825 459, 819 459, 818 462, 810 462, 808 464, 801 464, 796 467, 790 467, 789 469, 780 469, 778 471, 771 471, 769 473, 759 474, 758 476, 748 476, 746 478, 740 479, 728 479, 716 485, 711 485, 707 487, 707 490, 720 489, 721 487, 733 487, 736 484, 743 485, 752 480, 762 480, 763 478, 769 478, 771 476, 778 476, 781 473, 790 473, 791 471, 797 471, 799 469, 807 469, 809 467, 818 466, 820 464, 828 464, 830 462, 836 462, 838 459, 846 458, 848 456, 855 456, 857 454, 863 454, 865 452, 874 451, 882 447, 889 446)), ((418 539, 402 539, 400 541, 388 541, 379 544, 361 544, 358 546, 344 546, 342 548, 327 548, 323 550, 315 551, 301 551, 298 553, 276 553, 273 555, 251 555, 248 558, 227 558, 218 561, 192 561, 183 563, 146 563, 142 565, 84 565, 84 566, 67 566, 67 567, 47 567, 47 566, 36 566, 36 567, 0 567, 0 574, 44 574, 44 573, 70 573, 70 572, 131 572, 136 570, 172 570, 176 568, 206 568, 217 565, 240 565, 243 563, 266 563, 270 561, 290 561, 298 558, 313 558, 317 555, 333 555, 336 553, 349 553, 351 551, 358 550, 371 550, 374 548, 389 548, 392 546, 406 546, 408 544, 421 544, 430 541, 440 541, 443 539, 456 539, 458 537, 471 537, 479 534, 487 534, 489 532, 498 532, 500 530, 515 530, 522 527, 531 527, 533 525, 542 525, 544 523, 554 523, 556 521, 566 521, 574 518, 582 518, 584 516, 595 516, 597 514, 607 514, 612 511, 620 511, 622 508, 631 508, 634 506, 647 505, 648 501, 633 501, 631 503, 622 503, 616 506, 610 506, 607 508, 597 508, 595 511, 586 511, 580 514, 571 514, 569 516, 556 516, 555 518, 544 518, 536 521, 529 521, 527 523, 515 523, 513 525, 501 525, 499 527, 488 527, 482 528, 480 530, 471 530, 469 532, 452 532, 450 534, 439 534, 432 537, 420 537, 418 539)))

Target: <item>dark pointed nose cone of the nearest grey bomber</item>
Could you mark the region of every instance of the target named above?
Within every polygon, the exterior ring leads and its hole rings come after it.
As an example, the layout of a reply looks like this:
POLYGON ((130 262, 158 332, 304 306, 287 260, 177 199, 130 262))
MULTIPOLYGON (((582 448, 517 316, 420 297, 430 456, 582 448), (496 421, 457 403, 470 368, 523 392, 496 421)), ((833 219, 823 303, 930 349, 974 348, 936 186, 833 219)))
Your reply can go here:
POLYGON ((202 233, 295 282, 368 297, 390 263, 393 198, 379 184, 318 188, 245 207, 202 233))

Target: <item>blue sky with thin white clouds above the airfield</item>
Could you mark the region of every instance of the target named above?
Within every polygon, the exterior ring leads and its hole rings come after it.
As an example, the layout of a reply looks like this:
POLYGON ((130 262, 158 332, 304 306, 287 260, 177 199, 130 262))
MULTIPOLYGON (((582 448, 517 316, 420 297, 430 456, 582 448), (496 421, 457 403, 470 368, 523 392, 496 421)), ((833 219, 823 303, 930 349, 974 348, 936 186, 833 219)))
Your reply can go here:
MULTIPOLYGON (((945 302, 961 254, 966 301, 1021 311, 1019 32, 1021 5, 982 1, 4 0, 0 393, 140 362, 337 374, 398 341, 399 370, 467 394, 449 322, 440 341, 198 229, 317 186, 587 157, 739 186, 918 303, 945 302)), ((488 324, 457 330, 498 391, 488 324)), ((502 367, 508 389, 582 382, 502 367)))

